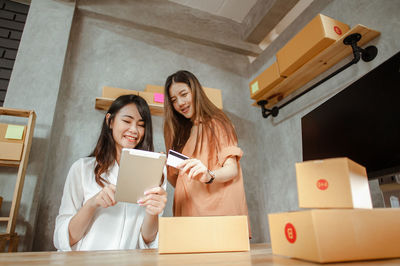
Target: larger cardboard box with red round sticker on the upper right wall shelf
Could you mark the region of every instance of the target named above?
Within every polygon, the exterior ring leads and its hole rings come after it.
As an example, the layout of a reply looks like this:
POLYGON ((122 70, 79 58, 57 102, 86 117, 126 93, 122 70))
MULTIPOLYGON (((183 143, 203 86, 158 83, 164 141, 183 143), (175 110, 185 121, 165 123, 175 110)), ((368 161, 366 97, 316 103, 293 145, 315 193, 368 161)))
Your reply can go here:
POLYGON ((281 76, 289 76, 322 50, 341 38, 350 27, 317 15, 276 54, 281 76))

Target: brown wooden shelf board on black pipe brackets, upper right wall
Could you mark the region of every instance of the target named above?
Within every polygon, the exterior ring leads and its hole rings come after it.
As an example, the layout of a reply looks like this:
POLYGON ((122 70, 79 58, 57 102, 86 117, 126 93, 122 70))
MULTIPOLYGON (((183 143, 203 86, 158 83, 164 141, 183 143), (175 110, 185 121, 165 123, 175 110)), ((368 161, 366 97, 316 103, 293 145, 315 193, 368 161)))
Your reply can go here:
POLYGON ((340 39, 296 70, 292 75, 285 78, 277 86, 260 96, 252 105, 258 106, 258 101, 267 100, 268 104, 266 107, 271 108, 289 96, 292 92, 303 87, 309 81, 346 58, 352 53, 352 49, 350 46, 345 45, 343 40, 353 33, 359 33, 362 36, 361 40, 358 42, 358 46, 365 45, 380 35, 380 32, 378 31, 360 24, 356 25, 354 28, 346 32, 340 39))

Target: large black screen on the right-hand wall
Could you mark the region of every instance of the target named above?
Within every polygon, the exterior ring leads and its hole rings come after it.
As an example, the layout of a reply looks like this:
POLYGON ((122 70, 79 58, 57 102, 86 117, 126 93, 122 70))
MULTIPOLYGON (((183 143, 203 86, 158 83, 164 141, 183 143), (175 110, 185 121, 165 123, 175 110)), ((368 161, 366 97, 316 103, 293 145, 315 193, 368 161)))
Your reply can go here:
POLYGON ((400 171, 400 53, 302 117, 301 125, 304 161, 349 157, 369 178, 400 171))

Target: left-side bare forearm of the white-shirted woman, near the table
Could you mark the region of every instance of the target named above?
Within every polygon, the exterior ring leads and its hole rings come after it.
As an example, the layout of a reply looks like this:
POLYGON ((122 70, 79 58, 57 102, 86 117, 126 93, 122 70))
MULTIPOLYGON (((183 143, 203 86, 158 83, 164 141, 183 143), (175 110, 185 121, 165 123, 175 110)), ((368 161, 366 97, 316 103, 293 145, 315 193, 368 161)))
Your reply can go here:
POLYGON ((87 201, 69 222, 68 232, 71 247, 81 240, 96 211, 96 207, 90 201, 87 201))

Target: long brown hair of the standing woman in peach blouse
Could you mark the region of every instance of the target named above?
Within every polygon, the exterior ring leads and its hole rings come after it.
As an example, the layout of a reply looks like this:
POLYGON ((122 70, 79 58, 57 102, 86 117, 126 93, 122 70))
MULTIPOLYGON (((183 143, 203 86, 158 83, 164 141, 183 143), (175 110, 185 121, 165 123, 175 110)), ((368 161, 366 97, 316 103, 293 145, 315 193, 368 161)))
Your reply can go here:
MULTIPOLYGON (((237 142, 237 136, 233 128, 232 122, 218 107, 216 107, 205 94, 203 87, 195 75, 186 70, 180 70, 170 75, 165 81, 164 92, 164 138, 167 151, 169 149, 181 152, 184 145, 190 136, 190 131, 193 126, 191 119, 185 118, 178 113, 170 96, 170 87, 174 83, 185 83, 192 92, 192 103, 194 105, 193 120, 200 121, 205 129, 215 136, 213 122, 217 122, 222 126, 223 133, 228 137, 230 143, 237 142)), ((197 141, 199 144, 199 128, 197 131, 197 141)), ((219 148, 218 143, 210 143, 211 148, 219 148)), ((197 147, 195 148, 197 151, 197 147)))

